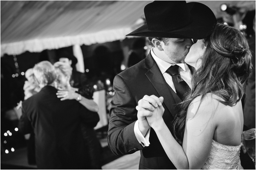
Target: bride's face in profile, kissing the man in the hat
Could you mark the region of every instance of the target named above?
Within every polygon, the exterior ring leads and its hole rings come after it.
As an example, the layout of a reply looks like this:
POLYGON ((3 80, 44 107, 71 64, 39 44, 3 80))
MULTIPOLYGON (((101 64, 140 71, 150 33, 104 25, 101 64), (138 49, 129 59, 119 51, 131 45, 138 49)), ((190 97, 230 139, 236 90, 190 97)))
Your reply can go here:
POLYGON ((205 49, 206 46, 204 45, 203 40, 198 40, 189 49, 189 53, 186 55, 185 62, 197 70, 201 65, 201 58, 205 49))

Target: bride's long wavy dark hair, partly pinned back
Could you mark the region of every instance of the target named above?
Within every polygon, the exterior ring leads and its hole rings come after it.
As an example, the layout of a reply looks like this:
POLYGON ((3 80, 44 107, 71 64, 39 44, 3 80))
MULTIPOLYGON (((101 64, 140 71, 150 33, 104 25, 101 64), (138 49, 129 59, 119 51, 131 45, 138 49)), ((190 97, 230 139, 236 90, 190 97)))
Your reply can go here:
POLYGON ((215 94, 224 105, 233 106, 241 100, 243 85, 252 70, 251 53, 246 38, 230 26, 218 23, 212 34, 203 40, 206 50, 201 66, 193 74, 192 89, 178 105, 173 130, 177 142, 182 145, 186 113, 191 102, 207 93, 215 94))

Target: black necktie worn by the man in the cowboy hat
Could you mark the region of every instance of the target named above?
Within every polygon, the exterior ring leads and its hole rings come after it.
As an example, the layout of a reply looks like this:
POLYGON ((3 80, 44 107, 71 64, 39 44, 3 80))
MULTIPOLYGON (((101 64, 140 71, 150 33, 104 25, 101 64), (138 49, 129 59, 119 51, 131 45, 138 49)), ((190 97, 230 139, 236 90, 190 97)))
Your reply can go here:
POLYGON ((183 100, 184 94, 189 91, 189 85, 180 76, 180 66, 172 65, 166 70, 166 73, 172 76, 172 82, 174 84, 176 94, 183 100))

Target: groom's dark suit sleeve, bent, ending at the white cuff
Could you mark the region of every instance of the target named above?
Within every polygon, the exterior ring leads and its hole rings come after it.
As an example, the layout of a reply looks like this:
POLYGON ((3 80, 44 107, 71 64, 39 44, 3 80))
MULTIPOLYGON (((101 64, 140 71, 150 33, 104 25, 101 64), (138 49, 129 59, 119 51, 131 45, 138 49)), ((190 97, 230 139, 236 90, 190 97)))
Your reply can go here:
POLYGON ((137 120, 137 102, 131 96, 124 80, 117 75, 113 82, 115 95, 111 101, 108 125, 108 146, 115 155, 125 155, 143 149, 134 134, 137 120))

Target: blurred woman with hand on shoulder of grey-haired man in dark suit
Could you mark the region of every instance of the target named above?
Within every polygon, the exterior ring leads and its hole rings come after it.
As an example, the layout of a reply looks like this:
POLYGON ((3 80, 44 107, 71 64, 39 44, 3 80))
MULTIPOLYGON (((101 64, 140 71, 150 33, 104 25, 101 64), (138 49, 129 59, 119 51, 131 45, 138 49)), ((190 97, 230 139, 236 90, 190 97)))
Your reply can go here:
MULTIPOLYGON (((73 88, 70 86, 70 65, 63 62, 56 62, 54 64, 57 74, 56 87, 59 90, 57 97, 61 100, 76 99, 89 111, 98 112, 99 107, 93 101, 94 89, 90 85, 85 85, 81 88, 73 88)), ((101 144, 96 136, 93 127, 87 127, 86 124, 81 123, 81 130, 84 141, 88 147, 88 154, 91 163, 91 169, 101 169, 101 144)))

